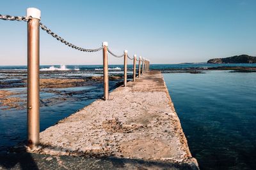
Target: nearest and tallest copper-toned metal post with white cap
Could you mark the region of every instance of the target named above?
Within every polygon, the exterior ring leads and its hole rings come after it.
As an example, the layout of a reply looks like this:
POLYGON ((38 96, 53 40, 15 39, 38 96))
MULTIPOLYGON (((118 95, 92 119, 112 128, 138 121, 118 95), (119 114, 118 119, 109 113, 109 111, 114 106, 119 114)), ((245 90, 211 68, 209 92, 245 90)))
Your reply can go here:
POLYGON ((27 9, 28 20, 28 85, 27 85, 27 125, 28 146, 39 145, 40 101, 39 101, 39 22, 41 11, 27 9))

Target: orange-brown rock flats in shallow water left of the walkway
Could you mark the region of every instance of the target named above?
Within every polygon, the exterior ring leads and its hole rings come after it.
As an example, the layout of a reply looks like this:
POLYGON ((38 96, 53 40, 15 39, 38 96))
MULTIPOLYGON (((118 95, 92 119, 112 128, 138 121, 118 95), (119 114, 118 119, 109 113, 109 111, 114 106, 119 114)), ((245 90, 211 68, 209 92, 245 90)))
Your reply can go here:
MULTIPOLYGON (((74 93, 77 92, 65 92, 61 89, 69 87, 86 87, 99 85, 103 81, 102 76, 90 76, 88 78, 41 78, 40 79, 40 91, 51 94, 56 94, 58 97, 51 97, 47 99, 40 99, 40 106, 52 106, 56 103, 61 103, 70 99, 74 93)), ((121 76, 109 76, 109 81, 116 81, 116 87, 122 84, 121 76)), ((3 84, 3 82, 2 82, 3 84)), ((19 88, 26 87, 26 80, 22 80, 22 84, 12 85, 12 83, 6 83, 6 88, 19 88)), ((26 109, 26 90, 12 91, 10 89, 0 90, 0 110, 22 110, 26 109)))

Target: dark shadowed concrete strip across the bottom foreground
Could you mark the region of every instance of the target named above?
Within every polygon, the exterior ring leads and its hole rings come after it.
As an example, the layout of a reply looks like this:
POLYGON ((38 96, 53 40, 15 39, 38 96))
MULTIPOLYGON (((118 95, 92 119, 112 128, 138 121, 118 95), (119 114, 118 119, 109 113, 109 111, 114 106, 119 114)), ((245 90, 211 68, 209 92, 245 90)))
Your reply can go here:
MULTIPOLYGON (((67 150, 58 146, 42 147, 67 150)), ((198 169, 194 164, 108 157, 108 153, 103 153, 101 157, 76 151, 70 151, 70 154, 80 156, 43 155, 24 150, 20 153, 3 153, 0 154, 0 169, 198 169)))

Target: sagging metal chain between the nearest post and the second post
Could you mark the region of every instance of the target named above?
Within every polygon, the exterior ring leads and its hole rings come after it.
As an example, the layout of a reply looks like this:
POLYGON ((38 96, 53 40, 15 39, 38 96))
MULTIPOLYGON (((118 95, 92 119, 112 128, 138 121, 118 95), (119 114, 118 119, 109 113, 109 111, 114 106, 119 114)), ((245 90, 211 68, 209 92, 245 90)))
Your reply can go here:
POLYGON ((79 50, 81 52, 98 52, 99 50, 102 50, 102 48, 103 48, 103 46, 100 46, 100 48, 95 48, 95 49, 81 48, 81 47, 73 45, 72 43, 69 43, 65 39, 61 38, 60 36, 58 36, 57 34, 52 32, 51 29, 49 29, 45 25, 43 25, 41 22, 40 22, 40 27, 42 28, 42 30, 46 31, 52 37, 56 38, 58 41, 61 41, 61 43, 64 43, 65 45, 75 48, 76 50, 79 50))

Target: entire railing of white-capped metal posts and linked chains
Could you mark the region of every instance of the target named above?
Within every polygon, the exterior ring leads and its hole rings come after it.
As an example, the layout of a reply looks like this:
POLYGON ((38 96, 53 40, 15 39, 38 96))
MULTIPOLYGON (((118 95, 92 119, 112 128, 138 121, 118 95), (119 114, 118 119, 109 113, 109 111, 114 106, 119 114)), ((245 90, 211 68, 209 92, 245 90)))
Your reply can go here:
MULTIPOLYGON (((127 58, 130 60, 134 60, 133 62, 133 74, 134 74, 134 81, 136 77, 136 55, 134 58, 129 57, 127 54, 127 50, 124 51, 122 55, 116 55, 115 53, 111 52, 108 48, 108 42, 103 42, 102 46, 95 49, 87 49, 76 46, 72 43, 69 43, 67 40, 58 36, 58 34, 51 31, 51 29, 47 28, 42 22, 40 22, 41 18, 41 11, 36 8, 28 8, 27 9, 27 16, 20 17, 20 16, 11 16, 11 15, 1 15, 1 20, 17 20, 17 21, 26 21, 28 22, 28 93, 27 93, 27 114, 28 114, 28 146, 33 148, 34 146, 39 145, 39 124, 40 124, 40 117, 39 117, 39 104, 40 103, 40 92, 39 92, 39 27, 42 30, 46 31, 50 34, 53 38, 61 41, 67 46, 79 50, 81 52, 99 52, 100 50, 103 51, 103 75, 104 75, 104 100, 108 100, 108 53, 113 55, 114 57, 121 58, 124 57, 124 86, 126 85, 127 81, 127 58), (35 62, 31 62, 31 60, 35 62)), ((141 75, 141 62, 143 64, 142 67, 142 74, 146 73, 149 70, 149 60, 141 60, 139 59, 139 74, 138 77, 140 78, 141 75), (143 72, 144 71, 144 72, 143 72)))

